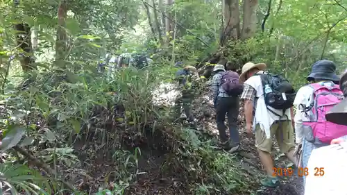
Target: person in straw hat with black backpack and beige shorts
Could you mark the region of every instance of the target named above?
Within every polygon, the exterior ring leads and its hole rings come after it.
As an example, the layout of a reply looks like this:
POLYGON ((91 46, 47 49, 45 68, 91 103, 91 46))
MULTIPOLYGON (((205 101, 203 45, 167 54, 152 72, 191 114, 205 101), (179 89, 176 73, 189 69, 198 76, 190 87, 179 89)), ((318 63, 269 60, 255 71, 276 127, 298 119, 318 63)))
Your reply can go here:
POLYGON ((255 133, 255 147, 267 176, 261 180, 265 187, 276 187, 279 180, 273 175, 271 150, 273 135, 277 139, 280 152, 285 153, 291 162, 294 158, 294 130, 291 123, 292 103, 295 92, 287 80, 278 75, 264 72, 264 63, 247 62, 239 76, 244 83, 241 99, 244 99, 246 133, 255 133))

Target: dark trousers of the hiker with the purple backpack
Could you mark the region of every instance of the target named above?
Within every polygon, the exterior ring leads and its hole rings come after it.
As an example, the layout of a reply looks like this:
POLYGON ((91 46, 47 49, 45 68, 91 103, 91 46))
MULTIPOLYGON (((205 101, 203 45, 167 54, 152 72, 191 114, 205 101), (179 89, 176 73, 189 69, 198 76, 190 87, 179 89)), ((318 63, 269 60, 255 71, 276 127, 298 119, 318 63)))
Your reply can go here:
POLYGON ((239 144, 239 130, 237 129, 237 117, 239 115, 239 97, 218 97, 217 98, 217 128, 221 142, 228 141, 226 135, 226 115, 228 117, 228 127, 230 131, 230 141, 232 144, 239 144))

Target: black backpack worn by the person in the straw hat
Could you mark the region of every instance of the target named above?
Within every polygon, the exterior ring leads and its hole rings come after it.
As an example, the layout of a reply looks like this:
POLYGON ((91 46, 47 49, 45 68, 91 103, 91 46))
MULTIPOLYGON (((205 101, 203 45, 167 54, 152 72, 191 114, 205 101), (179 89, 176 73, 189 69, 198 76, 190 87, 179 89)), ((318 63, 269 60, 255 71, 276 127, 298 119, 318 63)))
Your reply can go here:
POLYGON ((266 107, 270 106, 285 112, 293 106, 296 92, 287 79, 278 74, 268 73, 260 74, 260 78, 262 79, 266 107), (265 93, 266 85, 271 88, 272 92, 265 93))

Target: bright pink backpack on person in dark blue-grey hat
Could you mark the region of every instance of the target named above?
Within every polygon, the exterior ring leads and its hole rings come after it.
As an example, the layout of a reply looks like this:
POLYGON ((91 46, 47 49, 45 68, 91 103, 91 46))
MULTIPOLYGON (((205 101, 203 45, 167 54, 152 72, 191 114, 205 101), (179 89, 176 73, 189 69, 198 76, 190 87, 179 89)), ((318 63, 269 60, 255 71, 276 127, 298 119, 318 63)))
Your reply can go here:
MULTIPOLYGON (((305 115, 308 115, 310 121, 303 121, 304 126, 310 126, 312 133, 304 134, 309 142, 318 142, 323 144, 330 144, 332 139, 347 135, 347 126, 333 124, 325 119, 325 113, 328 112, 334 105, 339 103, 343 98, 343 93, 339 85, 326 86, 328 83, 314 83, 308 86, 314 89, 314 101, 305 109, 305 115)), ((310 130, 311 131, 311 130, 310 130)))

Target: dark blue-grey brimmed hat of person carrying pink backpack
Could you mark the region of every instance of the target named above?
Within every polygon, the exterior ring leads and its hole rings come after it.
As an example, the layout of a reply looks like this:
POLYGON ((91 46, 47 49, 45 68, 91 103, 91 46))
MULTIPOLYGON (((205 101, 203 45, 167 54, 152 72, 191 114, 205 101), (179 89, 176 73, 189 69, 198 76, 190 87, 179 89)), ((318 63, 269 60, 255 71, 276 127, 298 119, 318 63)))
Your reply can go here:
POLYGON ((312 66, 312 71, 309 76, 307 76, 308 81, 315 79, 332 80, 335 83, 339 82, 340 78, 335 73, 336 65, 334 62, 329 60, 319 60, 315 62, 312 66))

